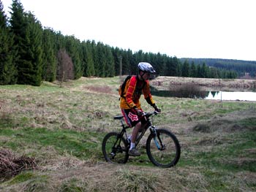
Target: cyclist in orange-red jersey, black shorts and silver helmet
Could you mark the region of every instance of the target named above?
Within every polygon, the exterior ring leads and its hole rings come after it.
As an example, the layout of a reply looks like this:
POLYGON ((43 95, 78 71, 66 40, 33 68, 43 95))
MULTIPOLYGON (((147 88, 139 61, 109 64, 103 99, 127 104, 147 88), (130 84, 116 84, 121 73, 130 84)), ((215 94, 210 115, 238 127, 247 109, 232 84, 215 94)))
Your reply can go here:
POLYGON ((133 127, 131 145, 129 148, 129 155, 139 156, 140 152, 135 148, 135 141, 140 131, 140 128, 145 120, 142 118, 143 110, 140 107, 140 96, 143 93, 144 99, 154 107, 154 110, 161 112, 152 99, 149 88, 149 77, 155 74, 155 70, 151 64, 140 62, 138 64, 139 72, 127 81, 124 88, 124 96, 120 99, 121 112, 129 127, 133 127))

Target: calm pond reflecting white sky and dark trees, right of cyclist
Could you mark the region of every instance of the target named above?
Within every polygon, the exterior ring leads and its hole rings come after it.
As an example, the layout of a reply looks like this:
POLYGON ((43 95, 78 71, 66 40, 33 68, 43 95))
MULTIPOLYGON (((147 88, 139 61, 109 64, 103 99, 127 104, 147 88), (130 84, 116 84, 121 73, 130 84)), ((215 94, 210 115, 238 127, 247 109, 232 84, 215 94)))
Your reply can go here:
POLYGON ((153 96, 179 97, 192 99, 214 99, 214 100, 232 100, 232 101, 256 101, 256 92, 240 91, 191 91, 191 90, 173 90, 164 91, 151 87, 153 96))

